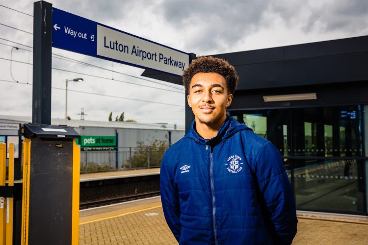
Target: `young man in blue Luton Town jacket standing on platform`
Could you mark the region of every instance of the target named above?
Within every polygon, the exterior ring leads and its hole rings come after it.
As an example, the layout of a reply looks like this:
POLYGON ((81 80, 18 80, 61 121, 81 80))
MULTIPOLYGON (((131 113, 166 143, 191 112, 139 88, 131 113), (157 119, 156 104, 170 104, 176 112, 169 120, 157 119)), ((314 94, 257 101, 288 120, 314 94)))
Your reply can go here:
POLYGON ((291 244, 295 201, 281 155, 226 115, 237 73, 199 57, 183 74, 195 120, 162 160, 167 224, 180 244, 291 244))

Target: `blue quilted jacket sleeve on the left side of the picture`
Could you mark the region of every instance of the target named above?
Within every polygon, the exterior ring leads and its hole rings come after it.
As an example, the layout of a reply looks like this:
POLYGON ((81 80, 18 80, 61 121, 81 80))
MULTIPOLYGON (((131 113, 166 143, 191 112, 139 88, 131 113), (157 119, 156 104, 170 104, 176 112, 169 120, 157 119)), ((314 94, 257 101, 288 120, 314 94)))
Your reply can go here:
POLYGON ((160 192, 166 222, 179 242, 181 234, 179 195, 167 171, 165 157, 162 159, 160 169, 160 192))

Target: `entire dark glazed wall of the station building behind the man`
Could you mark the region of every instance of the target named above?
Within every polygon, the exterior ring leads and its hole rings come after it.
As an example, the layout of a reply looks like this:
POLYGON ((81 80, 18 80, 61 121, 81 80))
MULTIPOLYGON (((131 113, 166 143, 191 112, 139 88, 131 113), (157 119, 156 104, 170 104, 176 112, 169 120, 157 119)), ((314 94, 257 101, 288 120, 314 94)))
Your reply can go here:
POLYGON ((279 149, 298 208, 367 212, 368 161, 354 159, 363 156, 363 122, 366 139, 368 135, 368 105, 365 112, 361 108, 351 105, 229 114, 279 149), (367 114, 365 121, 363 113, 367 114), (296 156, 298 159, 293 158, 296 156))

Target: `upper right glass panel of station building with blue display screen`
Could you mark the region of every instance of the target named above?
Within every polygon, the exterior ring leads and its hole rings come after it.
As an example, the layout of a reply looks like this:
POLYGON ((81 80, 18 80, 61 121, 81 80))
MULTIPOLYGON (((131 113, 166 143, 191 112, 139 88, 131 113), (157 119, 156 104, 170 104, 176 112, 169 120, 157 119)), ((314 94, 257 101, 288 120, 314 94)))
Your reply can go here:
POLYGON ((361 124, 359 105, 291 109, 291 155, 362 156, 361 124))

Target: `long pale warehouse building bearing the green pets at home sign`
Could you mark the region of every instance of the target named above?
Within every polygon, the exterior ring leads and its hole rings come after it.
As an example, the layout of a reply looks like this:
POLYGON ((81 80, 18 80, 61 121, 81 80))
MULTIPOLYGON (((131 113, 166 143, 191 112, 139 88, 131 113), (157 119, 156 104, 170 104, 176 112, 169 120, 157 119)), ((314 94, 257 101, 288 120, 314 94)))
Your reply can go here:
MULTIPOLYGON (((30 123, 31 117, 23 116, 3 116, 0 115, 0 123, 30 123)), ((137 168, 131 165, 131 157, 138 154, 135 150, 137 142, 143 142, 149 146, 155 140, 165 142, 169 145, 174 144, 184 136, 184 125, 163 123, 131 123, 131 122, 98 122, 85 120, 52 119, 52 125, 65 125, 73 127, 79 134, 77 140, 81 147, 80 164, 82 172, 91 169, 91 166, 105 166, 109 169, 137 168)), ((16 135, 16 130, 2 130, 0 128, 0 140, 7 141, 7 137, 16 135)), ((158 167, 157 152, 140 152, 144 154, 141 167, 158 167), (151 156, 151 165, 150 165, 151 156)), ((160 153, 162 154, 162 152, 160 153)), ((135 157, 137 158, 137 157, 135 157)), ((139 165, 140 166, 140 165, 139 165)))

